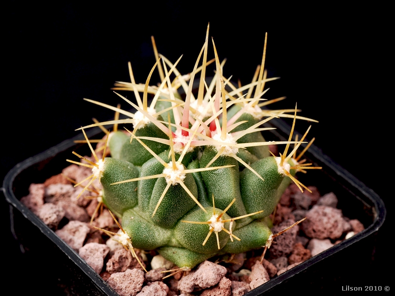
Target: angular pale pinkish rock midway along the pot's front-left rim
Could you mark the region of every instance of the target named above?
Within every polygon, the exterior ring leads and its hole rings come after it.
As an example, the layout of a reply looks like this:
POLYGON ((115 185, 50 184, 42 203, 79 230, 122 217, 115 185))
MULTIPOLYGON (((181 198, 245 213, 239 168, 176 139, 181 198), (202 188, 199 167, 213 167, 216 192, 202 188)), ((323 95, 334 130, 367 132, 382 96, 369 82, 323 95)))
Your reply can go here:
POLYGON ((89 233, 89 226, 84 222, 70 221, 62 229, 56 230, 55 233, 78 252, 89 233))

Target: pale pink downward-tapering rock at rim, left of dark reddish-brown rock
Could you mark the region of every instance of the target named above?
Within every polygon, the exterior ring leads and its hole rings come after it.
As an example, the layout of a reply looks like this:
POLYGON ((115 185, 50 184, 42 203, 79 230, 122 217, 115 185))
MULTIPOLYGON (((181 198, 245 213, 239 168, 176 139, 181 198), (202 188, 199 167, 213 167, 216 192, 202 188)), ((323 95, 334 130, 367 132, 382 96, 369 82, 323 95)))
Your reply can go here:
POLYGON ((103 269, 104 258, 106 258, 108 252, 110 252, 110 248, 106 245, 89 243, 79 248, 78 254, 94 271, 100 273, 103 269))

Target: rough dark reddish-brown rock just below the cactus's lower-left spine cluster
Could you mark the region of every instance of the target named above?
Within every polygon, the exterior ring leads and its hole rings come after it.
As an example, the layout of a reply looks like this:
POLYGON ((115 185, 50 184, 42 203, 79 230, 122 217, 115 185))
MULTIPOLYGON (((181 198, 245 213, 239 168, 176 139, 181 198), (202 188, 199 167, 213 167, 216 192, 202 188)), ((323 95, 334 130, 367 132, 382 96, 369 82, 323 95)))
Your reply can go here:
MULTIPOLYGON (((136 249, 135 252, 141 263, 144 265, 144 267, 146 267, 144 261, 140 257, 140 251, 136 249)), ((106 270, 110 273, 123 272, 126 269, 134 268, 143 270, 139 262, 137 262, 137 259, 133 258, 130 251, 126 251, 124 248, 115 251, 114 255, 107 261, 106 264, 106 270)))

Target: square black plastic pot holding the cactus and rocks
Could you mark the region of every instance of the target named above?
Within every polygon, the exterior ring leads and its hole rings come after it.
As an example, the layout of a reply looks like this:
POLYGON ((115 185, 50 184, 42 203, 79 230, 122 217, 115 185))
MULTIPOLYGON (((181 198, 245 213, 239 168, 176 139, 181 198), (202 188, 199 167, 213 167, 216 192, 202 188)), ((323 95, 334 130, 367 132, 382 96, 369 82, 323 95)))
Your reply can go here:
MULTIPOLYGON (((272 124, 268 126, 274 126, 272 124)), ((283 121, 277 120, 275 124, 276 130, 265 132, 268 141, 285 139, 289 133, 289 126, 283 121)), ((99 134, 99 131, 91 130, 88 136, 99 134)), ((81 135, 26 159, 6 175, 3 190, 10 204, 11 230, 28 254, 31 260, 29 263, 45 267, 48 271, 42 277, 47 285, 58 287, 58 292, 62 291, 65 295, 118 295, 73 249, 20 202, 28 194, 31 183, 43 183, 68 166, 65 159, 71 157, 73 150, 81 155, 88 152, 87 145, 74 143, 74 140, 79 139, 82 139, 81 135)), ((322 166, 322 170, 300 174, 299 179, 305 185, 317 186, 321 194, 334 192, 339 199, 338 208, 344 216, 358 219, 365 230, 273 278, 246 296, 278 295, 279 292, 299 291, 304 286, 315 294, 334 295, 330 292, 331 287, 336 285, 335 290, 341 292, 342 285, 347 285, 343 280, 345 275, 367 268, 372 261, 376 233, 386 215, 384 203, 377 194, 333 163, 314 145, 305 156, 309 162, 322 166)))

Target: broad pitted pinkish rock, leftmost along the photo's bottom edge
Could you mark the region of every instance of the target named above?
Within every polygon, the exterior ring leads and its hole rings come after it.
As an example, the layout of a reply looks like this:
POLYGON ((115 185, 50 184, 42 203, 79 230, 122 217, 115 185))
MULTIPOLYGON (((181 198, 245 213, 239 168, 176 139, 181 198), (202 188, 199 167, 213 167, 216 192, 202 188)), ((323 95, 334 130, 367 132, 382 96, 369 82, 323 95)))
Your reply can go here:
POLYGON ((136 296, 143 287, 144 272, 140 269, 127 269, 113 273, 107 283, 119 296, 136 296))

